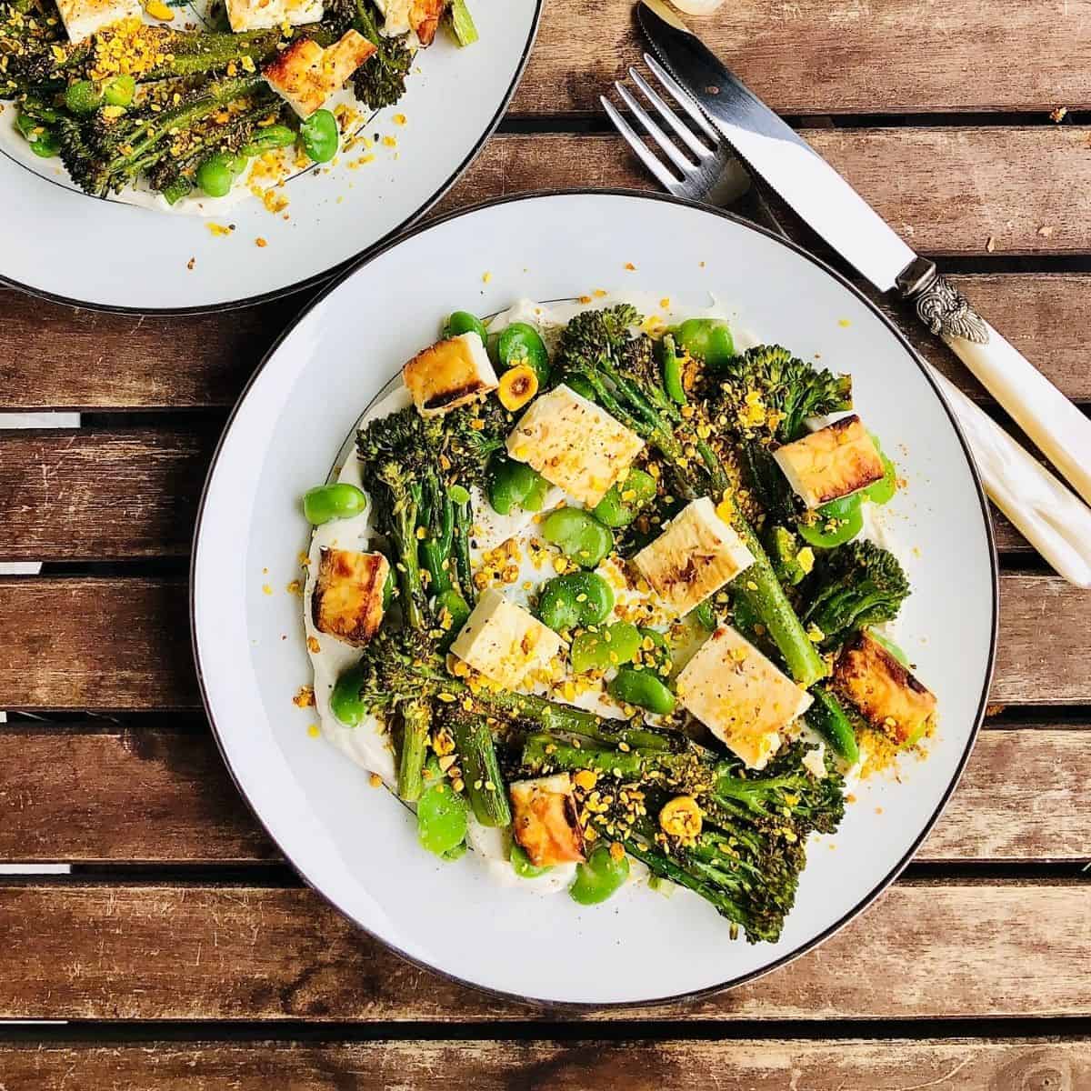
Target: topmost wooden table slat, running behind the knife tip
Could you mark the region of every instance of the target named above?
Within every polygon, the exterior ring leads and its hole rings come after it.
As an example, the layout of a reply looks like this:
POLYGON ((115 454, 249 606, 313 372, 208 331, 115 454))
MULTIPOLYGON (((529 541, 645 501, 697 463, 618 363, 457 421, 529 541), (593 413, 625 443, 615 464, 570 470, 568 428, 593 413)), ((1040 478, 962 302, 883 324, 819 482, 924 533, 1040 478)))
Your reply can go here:
MULTIPOLYGON (((1087 0, 739 0, 692 21, 786 113, 1051 110, 1091 103, 1087 0)), ((628 0, 549 0, 516 112, 598 112, 646 45, 628 0)))

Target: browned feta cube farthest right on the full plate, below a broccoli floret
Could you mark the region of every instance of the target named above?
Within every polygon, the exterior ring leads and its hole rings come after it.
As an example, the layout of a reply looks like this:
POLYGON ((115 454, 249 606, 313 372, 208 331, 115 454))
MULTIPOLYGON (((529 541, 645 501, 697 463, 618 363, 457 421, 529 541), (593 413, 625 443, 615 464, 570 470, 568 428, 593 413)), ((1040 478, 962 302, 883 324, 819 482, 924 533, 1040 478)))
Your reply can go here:
POLYGON ((834 684, 872 727, 897 743, 919 739, 936 710, 935 694, 866 630, 841 649, 834 684))

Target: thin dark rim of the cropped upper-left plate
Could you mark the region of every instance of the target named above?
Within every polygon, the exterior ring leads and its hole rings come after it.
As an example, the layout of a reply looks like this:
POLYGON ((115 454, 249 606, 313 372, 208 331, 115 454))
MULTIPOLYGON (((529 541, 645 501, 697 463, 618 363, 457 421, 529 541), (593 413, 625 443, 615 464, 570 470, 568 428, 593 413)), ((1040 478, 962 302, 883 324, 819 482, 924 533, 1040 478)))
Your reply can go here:
MULTIPOLYGON (((261 292, 257 296, 247 296, 243 299, 229 299, 212 303, 199 303, 195 307, 136 308, 121 307, 113 303, 88 302, 86 300, 75 299, 71 296, 61 296, 57 292, 47 291, 44 288, 36 288, 33 285, 23 284, 20 280, 5 276, 2 272, 0 272, 0 286, 15 288, 19 291, 26 292, 28 296, 34 296, 37 299, 45 299, 51 303, 63 303, 67 307, 75 307, 82 310, 103 311, 108 314, 145 314, 156 316, 161 315, 164 317, 178 317, 188 314, 211 314, 219 311, 236 311, 243 307, 255 307, 259 303, 268 303, 275 299, 283 299, 286 296, 293 296, 296 292, 305 291, 308 288, 313 288, 315 285, 331 280, 334 277, 339 279, 343 273, 351 273, 362 262, 369 261, 372 257, 377 257, 383 250, 397 242, 403 231, 406 231, 410 225, 413 225, 421 216, 427 215, 430 208, 433 208, 439 201, 443 200, 447 191, 455 184, 455 182, 458 181, 459 178, 463 177, 473 160, 481 154, 481 149, 489 142, 489 139, 496 131, 496 127, 507 112, 508 104, 512 101, 512 97, 515 95, 515 92, 519 86, 519 81, 523 79, 523 73, 526 71, 527 62, 530 60, 530 51, 533 49, 535 39, 538 37, 538 27, 541 24, 543 3, 544 0, 535 0, 535 14, 533 19, 530 21, 530 33, 527 35, 527 40, 524 44, 523 53, 519 57, 519 63, 515 67, 515 71, 512 73, 512 82, 508 84, 507 91, 504 93, 504 97, 496 107, 496 112, 492 116, 492 119, 485 125, 481 135, 473 142, 473 146, 467 153, 466 158, 463 159, 463 161, 454 169, 447 179, 440 184, 439 189, 436 189, 435 192, 432 193, 432 195, 422 205, 420 205, 420 207, 416 208, 412 213, 406 216, 400 224, 391 228, 391 230, 387 231, 381 239, 376 239, 374 242, 364 247, 362 250, 357 251, 350 257, 346 257, 344 261, 338 262, 336 265, 331 265, 329 268, 323 269, 321 273, 314 273, 313 275, 304 277, 302 280, 297 280, 295 284, 287 285, 284 288, 274 288, 271 291, 261 292)), ((2 155, 10 163, 13 163, 20 169, 33 175, 40 181, 47 182, 50 185, 61 185, 61 183, 56 179, 49 178, 45 175, 39 175, 36 170, 32 170, 25 163, 21 163, 3 148, 0 148, 0 155, 2 155)), ((64 185, 61 188, 68 189, 68 187, 64 185)), ((81 192, 76 192, 75 195, 88 197, 92 201, 107 200, 106 197, 94 197, 89 194, 81 192)), ((442 217, 433 223, 442 223, 443 219, 446 218, 447 217, 442 217)), ((407 237, 409 233, 411 232, 407 232, 407 237)), ((325 292, 322 292, 319 299, 324 296, 325 292)), ((317 302, 317 299, 315 299, 314 302, 317 302)), ((305 313, 305 311, 303 313, 305 313)), ((296 321, 298 321, 298 317, 292 321, 292 325, 296 324, 296 321)))

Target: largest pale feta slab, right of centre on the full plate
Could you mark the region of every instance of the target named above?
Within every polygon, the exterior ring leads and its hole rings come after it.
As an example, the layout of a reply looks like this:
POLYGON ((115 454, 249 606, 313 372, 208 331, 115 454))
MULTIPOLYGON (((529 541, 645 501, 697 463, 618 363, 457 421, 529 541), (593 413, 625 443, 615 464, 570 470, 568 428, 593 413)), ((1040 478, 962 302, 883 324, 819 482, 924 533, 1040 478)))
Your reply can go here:
POLYGON ((678 698, 752 769, 764 769, 781 732, 812 697, 735 630, 721 625, 682 668, 678 698))

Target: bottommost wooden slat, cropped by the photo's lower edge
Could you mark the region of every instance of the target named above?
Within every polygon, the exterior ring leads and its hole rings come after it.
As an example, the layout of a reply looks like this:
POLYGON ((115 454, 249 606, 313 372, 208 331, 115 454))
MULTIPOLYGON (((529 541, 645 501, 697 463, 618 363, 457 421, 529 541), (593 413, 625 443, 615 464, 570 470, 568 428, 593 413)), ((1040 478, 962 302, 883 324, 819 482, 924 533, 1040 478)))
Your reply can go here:
POLYGON ((471 1081, 475 1091, 1079 1091, 1088 1039, 724 1042, 368 1042, 0 1046, 9 1091, 380 1091, 471 1081), (439 1074, 443 1074, 440 1077, 439 1074))

